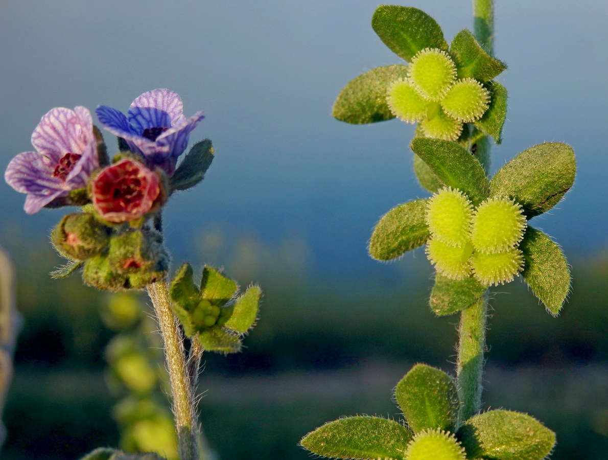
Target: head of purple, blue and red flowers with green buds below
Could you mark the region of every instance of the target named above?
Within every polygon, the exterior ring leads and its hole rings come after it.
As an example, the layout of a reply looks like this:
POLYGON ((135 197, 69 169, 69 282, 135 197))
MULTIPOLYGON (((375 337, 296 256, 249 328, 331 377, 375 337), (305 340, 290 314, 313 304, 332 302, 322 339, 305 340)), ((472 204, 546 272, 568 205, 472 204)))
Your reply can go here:
MULTIPOLYGON (((165 278, 168 255, 150 221, 166 203, 177 160, 202 119, 200 112, 187 119, 182 109, 178 94, 168 89, 145 92, 127 116, 98 106, 98 119, 122 147, 110 161, 85 107, 54 108, 32 134, 36 151, 12 159, 4 177, 27 193, 28 214, 82 207, 64 216, 52 234, 55 248, 71 260, 67 274, 84 266, 86 284, 112 291, 165 278)), ((188 186, 202 175, 197 177, 188 186)))

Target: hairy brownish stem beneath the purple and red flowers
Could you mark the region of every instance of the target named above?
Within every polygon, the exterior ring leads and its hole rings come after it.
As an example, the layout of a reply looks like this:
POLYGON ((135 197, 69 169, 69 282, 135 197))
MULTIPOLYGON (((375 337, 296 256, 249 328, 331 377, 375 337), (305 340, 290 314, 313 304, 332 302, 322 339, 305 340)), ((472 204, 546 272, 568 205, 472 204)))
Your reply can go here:
POLYGON ((199 425, 192 382, 186 366, 184 341, 169 299, 169 284, 159 281, 148 285, 148 295, 154 305, 156 319, 161 327, 165 358, 171 382, 173 413, 178 431, 179 458, 199 460, 199 425))

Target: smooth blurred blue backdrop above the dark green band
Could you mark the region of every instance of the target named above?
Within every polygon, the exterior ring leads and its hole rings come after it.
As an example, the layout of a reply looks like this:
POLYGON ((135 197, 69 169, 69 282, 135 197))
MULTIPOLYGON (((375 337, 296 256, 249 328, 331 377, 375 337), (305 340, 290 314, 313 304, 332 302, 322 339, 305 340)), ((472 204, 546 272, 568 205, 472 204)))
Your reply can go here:
MULTIPOLYGON (((274 248, 297 242, 323 272, 381 273, 367 256, 371 228, 396 204, 426 196, 412 172, 413 128, 331 117, 349 80, 400 62, 371 29, 377 5, 4 0, 0 165, 31 150, 33 128, 54 106, 126 111, 142 92, 170 88, 186 116, 206 115, 191 141, 208 137, 216 149, 204 183, 167 207, 176 259, 195 257, 188 248, 200 249, 201 235, 249 235, 274 248)), ((434 16, 448 42, 472 27, 469 1, 409 5, 434 16)), ((575 187, 535 223, 570 255, 608 243, 606 24, 603 0, 497 1, 496 56, 509 66, 498 79, 509 107, 494 170, 541 142, 575 148, 575 187)), ((116 139, 106 134, 106 142, 115 152, 116 139)), ((0 243, 17 231, 44 240, 60 218, 46 210, 26 216, 24 195, 4 183, 0 193, 0 243)))

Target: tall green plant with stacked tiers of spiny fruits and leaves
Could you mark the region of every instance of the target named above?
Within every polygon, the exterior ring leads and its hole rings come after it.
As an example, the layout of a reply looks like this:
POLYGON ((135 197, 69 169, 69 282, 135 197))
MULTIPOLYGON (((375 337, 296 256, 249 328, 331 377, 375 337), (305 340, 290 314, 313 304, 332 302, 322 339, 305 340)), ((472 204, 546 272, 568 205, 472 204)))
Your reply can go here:
POLYGON ((406 460, 541 460, 555 435, 526 414, 482 408, 488 292, 522 274, 551 315, 570 290, 570 270, 556 243, 528 221, 572 187, 576 162, 561 143, 520 153, 492 178, 489 137, 500 143, 506 89, 492 80, 506 69, 492 56, 492 0, 474 0, 475 34, 451 46, 433 18, 412 7, 381 5, 371 25, 409 65, 373 69, 348 83, 334 117, 351 124, 398 117, 418 122, 410 143, 414 169, 430 198, 400 204, 376 225, 370 254, 392 260, 426 245, 437 270, 430 307, 461 312, 457 377, 417 364, 395 389, 404 420, 349 417, 302 439, 326 457, 406 460))

